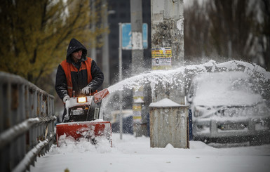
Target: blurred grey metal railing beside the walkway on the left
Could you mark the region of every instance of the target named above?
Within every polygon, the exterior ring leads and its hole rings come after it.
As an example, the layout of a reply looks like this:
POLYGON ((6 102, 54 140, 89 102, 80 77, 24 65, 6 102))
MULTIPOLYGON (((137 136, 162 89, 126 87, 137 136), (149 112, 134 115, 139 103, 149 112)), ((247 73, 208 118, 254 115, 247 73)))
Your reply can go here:
POLYGON ((53 144, 54 97, 0 72, 0 171, 26 171, 53 144))

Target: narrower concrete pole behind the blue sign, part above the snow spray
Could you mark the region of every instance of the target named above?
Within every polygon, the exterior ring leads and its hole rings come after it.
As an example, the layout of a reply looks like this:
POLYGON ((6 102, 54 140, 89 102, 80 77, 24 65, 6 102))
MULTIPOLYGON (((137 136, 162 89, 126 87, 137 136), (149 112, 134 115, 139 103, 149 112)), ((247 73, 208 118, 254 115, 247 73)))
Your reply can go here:
POLYGON ((142 48, 142 0, 130 0, 130 19, 132 32, 132 72, 139 74, 143 69, 142 48))

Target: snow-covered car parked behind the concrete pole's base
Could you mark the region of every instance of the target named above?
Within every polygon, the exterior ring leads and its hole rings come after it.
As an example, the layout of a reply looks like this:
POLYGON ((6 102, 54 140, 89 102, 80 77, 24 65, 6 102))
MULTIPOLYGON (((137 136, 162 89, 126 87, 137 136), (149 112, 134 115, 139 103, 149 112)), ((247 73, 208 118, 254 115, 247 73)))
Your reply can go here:
POLYGON ((195 140, 270 140, 270 109, 245 72, 198 74, 187 101, 195 140))

